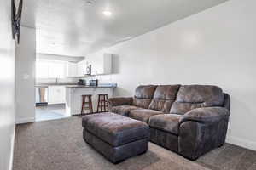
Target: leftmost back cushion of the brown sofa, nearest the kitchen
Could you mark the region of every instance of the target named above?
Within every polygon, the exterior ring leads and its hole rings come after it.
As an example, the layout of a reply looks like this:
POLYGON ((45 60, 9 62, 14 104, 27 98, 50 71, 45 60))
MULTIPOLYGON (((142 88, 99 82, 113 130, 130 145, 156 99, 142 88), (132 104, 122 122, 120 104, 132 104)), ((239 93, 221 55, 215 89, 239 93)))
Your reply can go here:
POLYGON ((147 85, 147 86, 139 86, 135 90, 135 96, 133 99, 133 105, 137 107, 142 107, 148 109, 148 105, 154 96, 154 90, 156 86, 147 85))

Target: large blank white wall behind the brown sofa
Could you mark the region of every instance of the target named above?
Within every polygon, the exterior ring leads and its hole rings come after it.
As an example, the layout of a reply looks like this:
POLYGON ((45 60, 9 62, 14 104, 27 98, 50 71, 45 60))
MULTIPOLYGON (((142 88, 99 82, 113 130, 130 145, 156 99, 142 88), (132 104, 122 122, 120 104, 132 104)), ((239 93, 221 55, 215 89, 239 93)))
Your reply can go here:
POLYGON ((256 1, 230 0, 128 42, 104 49, 116 54, 111 76, 116 96, 139 84, 214 84, 231 95, 227 141, 256 150, 256 1))

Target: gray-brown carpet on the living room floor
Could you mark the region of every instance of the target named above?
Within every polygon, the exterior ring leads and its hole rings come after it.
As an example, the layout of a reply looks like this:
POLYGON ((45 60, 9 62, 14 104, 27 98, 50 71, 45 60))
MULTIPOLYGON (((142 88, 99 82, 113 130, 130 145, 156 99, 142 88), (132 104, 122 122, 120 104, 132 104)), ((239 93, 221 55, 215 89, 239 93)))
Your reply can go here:
POLYGON ((189 161, 156 144, 146 154, 113 165, 85 144, 80 117, 16 127, 14 170, 256 169, 256 152, 232 144, 189 161))

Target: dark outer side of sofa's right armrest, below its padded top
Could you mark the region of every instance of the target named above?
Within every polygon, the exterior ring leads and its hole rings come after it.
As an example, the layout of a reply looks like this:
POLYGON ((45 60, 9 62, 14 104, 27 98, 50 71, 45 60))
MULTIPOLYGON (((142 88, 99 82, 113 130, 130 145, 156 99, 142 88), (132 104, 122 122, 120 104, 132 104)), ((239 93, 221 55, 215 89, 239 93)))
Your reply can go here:
POLYGON ((178 153, 194 161, 220 147, 225 143, 228 124, 228 116, 211 123, 183 122, 179 127, 178 153))

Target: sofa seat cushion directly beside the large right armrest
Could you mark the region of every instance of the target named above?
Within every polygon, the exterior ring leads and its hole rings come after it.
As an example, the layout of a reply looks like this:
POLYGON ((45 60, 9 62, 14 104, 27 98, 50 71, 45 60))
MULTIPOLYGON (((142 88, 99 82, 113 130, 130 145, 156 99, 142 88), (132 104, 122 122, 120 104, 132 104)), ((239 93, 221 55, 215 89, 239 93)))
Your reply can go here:
POLYGON ((151 116, 149 118, 149 127, 154 127, 168 133, 178 135, 179 122, 183 116, 176 114, 164 114, 151 116))

